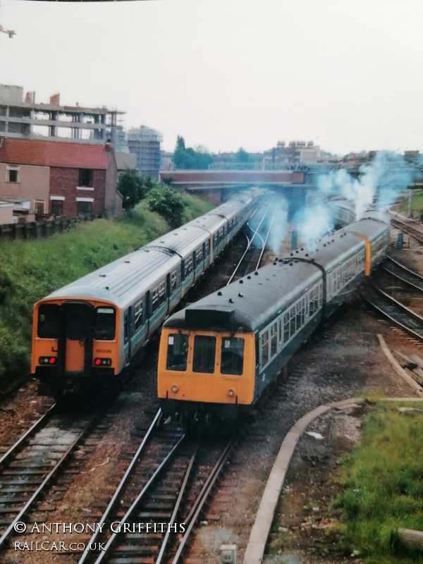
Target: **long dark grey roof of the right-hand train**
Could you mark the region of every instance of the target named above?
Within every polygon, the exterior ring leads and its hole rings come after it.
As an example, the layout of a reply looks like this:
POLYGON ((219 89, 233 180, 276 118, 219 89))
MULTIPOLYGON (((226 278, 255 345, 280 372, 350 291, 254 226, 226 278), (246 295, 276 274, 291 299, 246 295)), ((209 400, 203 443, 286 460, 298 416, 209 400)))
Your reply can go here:
POLYGON ((353 223, 321 238, 314 250, 307 250, 305 247, 297 249, 287 257, 280 257, 254 274, 202 298, 173 314, 164 326, 177 329, 257 331, 322 279, 318 265, 331 271, 360 247, 364 249, 360 234, 375 238, 384 231, 386 223, 382 221, 363 219, 353 223))

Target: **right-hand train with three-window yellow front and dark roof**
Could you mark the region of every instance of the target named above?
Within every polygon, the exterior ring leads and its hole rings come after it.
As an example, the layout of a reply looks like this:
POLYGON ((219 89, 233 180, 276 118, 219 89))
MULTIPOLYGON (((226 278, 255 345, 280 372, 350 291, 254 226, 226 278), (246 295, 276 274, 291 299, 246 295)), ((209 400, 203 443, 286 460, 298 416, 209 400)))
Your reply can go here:
POLYGON ((254 405, 301 343, 381 262, 388 223, 365 219, 276 259, 169 317, 158 396, 166 414, 231 419, 254 405))

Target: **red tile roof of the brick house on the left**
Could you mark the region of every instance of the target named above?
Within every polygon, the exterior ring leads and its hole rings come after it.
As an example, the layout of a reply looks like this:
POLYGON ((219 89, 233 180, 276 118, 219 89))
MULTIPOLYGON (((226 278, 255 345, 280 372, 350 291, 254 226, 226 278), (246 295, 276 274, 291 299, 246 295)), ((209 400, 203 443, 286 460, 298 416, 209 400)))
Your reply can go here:
POLYGON ((105 169, 110 154, 104 145, 7 137, 0 147, 0 162, 105 169))

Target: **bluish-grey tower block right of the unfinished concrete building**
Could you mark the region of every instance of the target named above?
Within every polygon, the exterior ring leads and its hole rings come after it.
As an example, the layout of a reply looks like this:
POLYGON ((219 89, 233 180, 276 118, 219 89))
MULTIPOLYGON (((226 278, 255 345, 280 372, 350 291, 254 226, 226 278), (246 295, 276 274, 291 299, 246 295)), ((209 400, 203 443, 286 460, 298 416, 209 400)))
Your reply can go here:
POLYGON ((128 131, 128 147, 137 160, 137 171, 154 180, 159 178, 160 144, 163 135, 159 131, 141 125, 128 131))

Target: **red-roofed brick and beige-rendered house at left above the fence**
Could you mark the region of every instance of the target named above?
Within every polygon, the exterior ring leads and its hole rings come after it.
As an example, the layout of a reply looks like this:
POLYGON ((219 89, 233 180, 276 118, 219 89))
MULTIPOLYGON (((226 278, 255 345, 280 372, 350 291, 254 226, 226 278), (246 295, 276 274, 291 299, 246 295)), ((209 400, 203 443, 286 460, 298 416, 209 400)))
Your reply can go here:
POLYGON ((29 216, 116 216, 117 179, 111 143, 0 137, 0 200, 30 202, 29 216))

